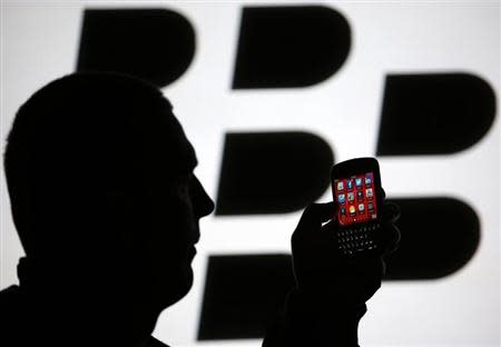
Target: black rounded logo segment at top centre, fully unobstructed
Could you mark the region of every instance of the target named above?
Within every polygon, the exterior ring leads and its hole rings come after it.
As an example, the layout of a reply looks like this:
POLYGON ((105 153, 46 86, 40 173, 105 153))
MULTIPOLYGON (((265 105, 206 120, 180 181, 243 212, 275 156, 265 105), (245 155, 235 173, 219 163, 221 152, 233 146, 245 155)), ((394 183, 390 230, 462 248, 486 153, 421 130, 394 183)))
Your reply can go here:
POLYGON ((346 18, 332 8, 245 7, 233 89, 314 86, 341 69, 351 43, 346 18))

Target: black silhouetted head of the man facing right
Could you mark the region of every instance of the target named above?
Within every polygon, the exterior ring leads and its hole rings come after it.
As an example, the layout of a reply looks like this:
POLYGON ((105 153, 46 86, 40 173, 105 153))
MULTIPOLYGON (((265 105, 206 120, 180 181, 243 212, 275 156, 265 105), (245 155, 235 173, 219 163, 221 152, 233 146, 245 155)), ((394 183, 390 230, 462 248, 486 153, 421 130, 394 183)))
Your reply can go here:
POLYGON ((114 73, 49 83, 19 109, 4 153, 28 259, 71 267, 62 280, 96 275, 173 304, 189 290, 198 219, 214 208, 195 166, 156 87, 114 73))

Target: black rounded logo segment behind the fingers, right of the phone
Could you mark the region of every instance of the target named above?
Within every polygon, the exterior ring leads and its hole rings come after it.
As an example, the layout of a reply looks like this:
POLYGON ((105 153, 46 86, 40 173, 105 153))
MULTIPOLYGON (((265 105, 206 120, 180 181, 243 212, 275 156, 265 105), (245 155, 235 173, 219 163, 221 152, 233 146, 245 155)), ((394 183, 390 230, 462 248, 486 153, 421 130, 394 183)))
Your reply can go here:
POLYGON ((399 205, 405 239, 386 258, 389 280, 436 279, 462 269, 480 242, 480 219, 455 198, 391 199, 399 205), (423 256, 425 254, 425 256, 423 256))

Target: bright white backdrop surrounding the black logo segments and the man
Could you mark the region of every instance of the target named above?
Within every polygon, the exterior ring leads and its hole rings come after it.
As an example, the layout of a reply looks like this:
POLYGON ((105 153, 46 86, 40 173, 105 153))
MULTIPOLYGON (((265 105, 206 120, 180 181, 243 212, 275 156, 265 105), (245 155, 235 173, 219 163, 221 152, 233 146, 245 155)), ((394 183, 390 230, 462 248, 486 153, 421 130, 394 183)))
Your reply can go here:
MULTIPOLYGON (((491 85, 499 102, 498 1, 322 2, 340 11, 352 29, 352 49, 343 68, 311 88, 235 91, 230 86, 242 8, 253 3, 4 1, 2 151, 19 106, 43 85, 75 70, 82 11, 90 7, 166 8, 194 26, 197 48, 191 66, 164 91, 197 150, 196 172, 212 197, 217 192, 226 131, 299 129, 330 142, 336 161, 374 156, 386 73, 474 73, 491 85), (356 136, 355 127, 348 125, 356 125, 356 136)), ((499 138, 498 112, 485 137, 465 151, 379 158, 390 197, 459 198, 479 215, 481 240, 473 259, 446 278, 385 282, 362 319, 361 345, 499 346, 499 138)), ((6 288, 17 282, 16 265, 23 252, 10 217, 3 167, 0 182, 1 288, 6 288)), ((322 200, 328 199, 326 192, 322 200)), ((210 216, 203 220, 194 288, 161 315, 155 335, 173 346, 258 346, 259 340, 196 343, 207 256, 288 251, 298 216, 210 216)))

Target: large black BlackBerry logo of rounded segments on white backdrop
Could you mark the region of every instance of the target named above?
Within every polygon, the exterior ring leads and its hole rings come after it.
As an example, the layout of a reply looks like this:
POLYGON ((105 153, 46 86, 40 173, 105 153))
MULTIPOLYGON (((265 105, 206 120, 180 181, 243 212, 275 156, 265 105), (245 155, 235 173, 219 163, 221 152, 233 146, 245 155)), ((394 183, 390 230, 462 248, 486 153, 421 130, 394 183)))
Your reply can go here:
MULTIPOLYGON (((127 72, 168 87, 189 75, 196 38, 190 21, 171 10, 86 10, 77 69, 127 72)), ((230 88, 306 90, 333 78, 351 49, 351 24, 333 8, 244 7, 230 88)), ((463 151, 488 133, 497 108, 489 83, 463 71, 387 75, 381 102, 379 157, 463 151)), ((308 129, 226 131, 222 156, 216 218, 301 210, 328 189, 335 161, 328 142, 308 129)), ((386 280, 441 278, 474 255, 480 221, 465 201, 393 200, 402 208, 404 236, 386 280)), ((274 316, 292 280, 288 255, 210 256, 198 338, 263 336, 263 317, 274 316)))

